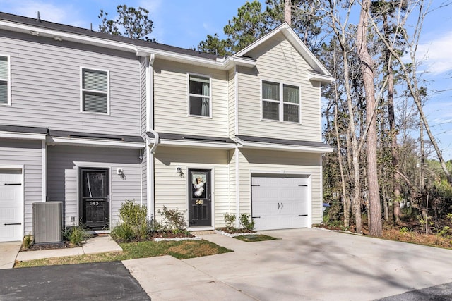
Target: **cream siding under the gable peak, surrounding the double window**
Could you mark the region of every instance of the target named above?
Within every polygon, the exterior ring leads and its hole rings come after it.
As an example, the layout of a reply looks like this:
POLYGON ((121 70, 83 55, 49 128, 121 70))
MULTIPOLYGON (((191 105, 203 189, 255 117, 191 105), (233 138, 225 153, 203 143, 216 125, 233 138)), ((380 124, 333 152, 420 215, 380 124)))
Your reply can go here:
MULTIPOLYGON (((262 44, 247 55, 256 59, 256 71, 239 67, 239 135, 321 141, 321 87, 319 82, 309 80, 308 70, 311 70, 311 67, 292 44, 283 34, 278 34, 270 42, 262 44), (263 81, 299 87, 298 123, 263 119, 263 81)), ((292 104, 284 102, 284 105, 287 107, 292 104)), ((279 117, 283 121, 284 116, 279 117)))

